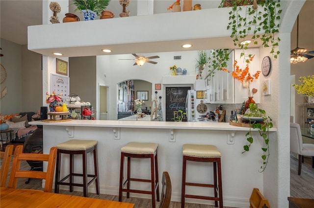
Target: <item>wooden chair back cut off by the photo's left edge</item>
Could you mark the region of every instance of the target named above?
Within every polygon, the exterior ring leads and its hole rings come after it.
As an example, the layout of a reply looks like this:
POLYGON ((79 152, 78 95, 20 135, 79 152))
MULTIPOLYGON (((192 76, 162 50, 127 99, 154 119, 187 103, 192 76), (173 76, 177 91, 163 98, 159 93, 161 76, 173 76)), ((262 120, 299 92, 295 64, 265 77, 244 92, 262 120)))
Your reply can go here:
POLYGON ((5 151, 0 152, 0 156, 1 156, 0 158, 3 159, 2 165, 1 165, 1 181, 0 181, 1 187, 5 187, 5 185, 6 185, 6 180, 8 178, 12 152, 13 152, 13 145, 7 145, 5 147, 5 151))

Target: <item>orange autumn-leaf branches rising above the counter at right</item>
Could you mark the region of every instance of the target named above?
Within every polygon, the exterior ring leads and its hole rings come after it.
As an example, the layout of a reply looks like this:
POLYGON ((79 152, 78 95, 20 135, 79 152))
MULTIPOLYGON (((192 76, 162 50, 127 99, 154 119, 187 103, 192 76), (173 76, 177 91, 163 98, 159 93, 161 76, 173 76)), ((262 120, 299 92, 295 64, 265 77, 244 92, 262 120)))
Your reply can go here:
MULTIPOLYGON (((235 70, 232 72, 232 76, 238 79, 240 82, 247 82, 247 90, 248 90, 248 96, 251 97, 251 91, 250 91, 250 82, 253 82, 255 79, 258 79, 260 76, 261 71, 257 71, 255 74, 251 75, 249 72, 249 64, 251 61, 253 61, 255 55, 249 56, 249 59, 246 59, 246 67, 245 69, 240 69, 240 67, 237 65, 237 61, 235 60, 234 68, 235 70)), ((227 69, 221 69, 227 72, 227 69)), ((254 89, 253 89, 254 90, 254 89)), ((255 93, 255 92, 253 92, 255 93)))

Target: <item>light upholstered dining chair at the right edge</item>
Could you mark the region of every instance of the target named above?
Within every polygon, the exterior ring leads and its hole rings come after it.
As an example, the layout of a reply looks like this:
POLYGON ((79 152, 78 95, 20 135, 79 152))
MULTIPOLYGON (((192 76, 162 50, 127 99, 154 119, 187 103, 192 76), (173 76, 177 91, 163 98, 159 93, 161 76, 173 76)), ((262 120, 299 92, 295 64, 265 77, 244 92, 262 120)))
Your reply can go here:
POLYGON ((298 155, 298 175, 301 175, 303 156, 312 157, 312 167, 314 167, 314 144, 303 143, 301 128, 298 123, 290 123, 290 152, 298 155))

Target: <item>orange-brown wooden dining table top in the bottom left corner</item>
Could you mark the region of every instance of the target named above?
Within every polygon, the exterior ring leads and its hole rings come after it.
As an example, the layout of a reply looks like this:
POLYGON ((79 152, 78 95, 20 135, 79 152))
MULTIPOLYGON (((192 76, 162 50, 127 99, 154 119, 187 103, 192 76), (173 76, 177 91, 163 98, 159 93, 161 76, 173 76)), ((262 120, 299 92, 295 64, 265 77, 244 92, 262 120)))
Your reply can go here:
POLYGON ((134 204, 31 189, 1 187, 1 208, 133 208, 134 204))

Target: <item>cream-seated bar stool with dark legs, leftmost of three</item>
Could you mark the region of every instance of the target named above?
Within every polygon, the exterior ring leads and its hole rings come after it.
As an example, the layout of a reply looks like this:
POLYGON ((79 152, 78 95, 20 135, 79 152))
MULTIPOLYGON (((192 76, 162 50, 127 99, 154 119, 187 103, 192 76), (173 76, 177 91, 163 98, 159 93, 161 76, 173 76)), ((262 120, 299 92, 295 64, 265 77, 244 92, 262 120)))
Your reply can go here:
POLYGON ((56 169, 55 169, 54 193, 59 193, 59 185, 69 185, 70 192, 73 192, 73 186, 81 186, 83 187, 84 197, 87 197, 88 195, 87 187, 94 181, 96 184, 96 193, 97 195, 99 195, 99 180, 98 180, 98 166, 97 166, 97 141, 71 139, 69 141, 58 144, 57 145, 57 161, 56 161, 56 169), (94 174, 87 173, 87 153, 89 152, 93 152, 93 156, 94 156, 94 174), (60 179, 62 154, 70 155, 70 173, 69 175, 60 179), (82 174, 74 173, 74 155, 82 155, 82 164, 83 164, 82 174), (74 183, 74 176, 83 177, 83 183, 82 184, 74 183), (89 182, 88 182, 88 177, 92 177, 92 179, 89 182), (69 179, 70 182, 64 182, 66 179, 69 179))

